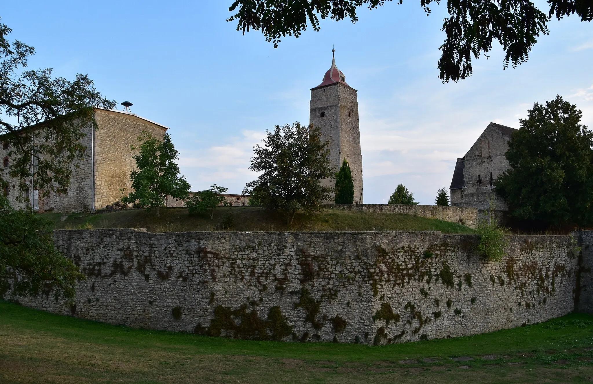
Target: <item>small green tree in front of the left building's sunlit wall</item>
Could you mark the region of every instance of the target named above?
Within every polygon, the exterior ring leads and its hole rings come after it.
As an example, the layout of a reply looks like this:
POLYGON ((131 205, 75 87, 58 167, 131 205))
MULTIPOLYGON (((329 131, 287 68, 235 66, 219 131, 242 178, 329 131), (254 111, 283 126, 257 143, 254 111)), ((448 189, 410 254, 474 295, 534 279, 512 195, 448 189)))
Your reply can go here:
MULTIPOLYGON (((146 131, 138 137, 140 152, 134 156, 138 170, 130 175, 133 192, 122 199, 122 202, 134 203, 139 206, 157 208, 164 205, 165 198, 171 196, 184 199, 189 192, 189 183, 179 175, 179 166, 174 160, 179 153, 173 146, 171 136, 165 133, 162 141, 146 131)), ((136 150, 135 146, 130 146, 136 150)))

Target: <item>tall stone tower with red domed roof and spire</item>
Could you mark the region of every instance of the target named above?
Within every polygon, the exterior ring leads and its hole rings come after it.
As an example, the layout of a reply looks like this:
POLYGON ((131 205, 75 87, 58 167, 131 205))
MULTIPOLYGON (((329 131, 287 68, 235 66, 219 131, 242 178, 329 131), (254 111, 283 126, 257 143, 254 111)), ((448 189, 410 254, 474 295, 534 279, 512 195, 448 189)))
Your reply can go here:
MULTIPOLYGON (((311 88, 309 122, 321 130, 321 140, 329 141, 330 165, 336 172, 346 159, 352 170, 354 202, 363 204, 361 134, 358 122, 356 89, 347 85, 346 77, 336 67, 332 50, 331 67, 323 82, 311 88)), ((333 186, 333 180, 324 180, 333 186)), ((332 197, 333 200, 333 197, 332 197)))

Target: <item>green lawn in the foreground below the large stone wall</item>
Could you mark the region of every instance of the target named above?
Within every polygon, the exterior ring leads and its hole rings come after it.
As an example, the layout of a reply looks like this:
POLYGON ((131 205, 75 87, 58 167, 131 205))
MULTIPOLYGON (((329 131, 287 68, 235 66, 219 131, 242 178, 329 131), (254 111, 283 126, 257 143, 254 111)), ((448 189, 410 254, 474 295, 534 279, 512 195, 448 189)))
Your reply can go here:
POLYGON ((591 380, 593 316, 585 314, 471 337, 369 347, 135 330, 0 301, 2 383, 433 384, 591 380), (472 360, 451 359, 458 357, 472 360))

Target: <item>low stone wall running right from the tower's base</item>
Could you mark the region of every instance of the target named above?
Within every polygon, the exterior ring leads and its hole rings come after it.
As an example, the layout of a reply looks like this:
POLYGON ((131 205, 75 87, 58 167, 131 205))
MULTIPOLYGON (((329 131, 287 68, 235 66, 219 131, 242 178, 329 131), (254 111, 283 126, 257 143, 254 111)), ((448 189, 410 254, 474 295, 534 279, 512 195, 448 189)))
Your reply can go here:
POLYGON ((327 208, 343 211, 367 211, 415 215, 429 219, 458 222, 470 228, 478 226, 478 210, 465 206, 407 205, 407 204, 328 204, 327 208))

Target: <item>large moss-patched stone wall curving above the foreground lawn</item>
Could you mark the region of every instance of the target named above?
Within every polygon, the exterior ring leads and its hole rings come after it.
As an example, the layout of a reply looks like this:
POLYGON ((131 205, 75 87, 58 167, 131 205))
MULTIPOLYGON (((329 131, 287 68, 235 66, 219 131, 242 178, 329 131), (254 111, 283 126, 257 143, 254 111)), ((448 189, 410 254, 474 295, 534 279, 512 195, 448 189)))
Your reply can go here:
POLYGON ((87 275, 76 304, 27 306, 158 330, 385 344, 518 327, 574 308, 568 236, 507 237, 487 262, 476 235, 433 232, 55 232, 87 275))

